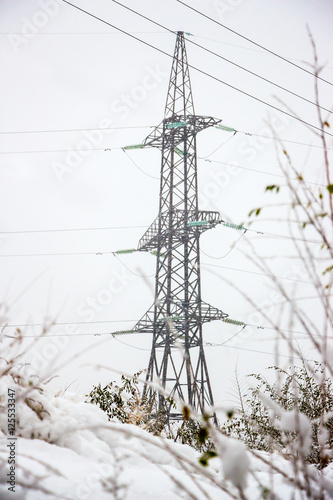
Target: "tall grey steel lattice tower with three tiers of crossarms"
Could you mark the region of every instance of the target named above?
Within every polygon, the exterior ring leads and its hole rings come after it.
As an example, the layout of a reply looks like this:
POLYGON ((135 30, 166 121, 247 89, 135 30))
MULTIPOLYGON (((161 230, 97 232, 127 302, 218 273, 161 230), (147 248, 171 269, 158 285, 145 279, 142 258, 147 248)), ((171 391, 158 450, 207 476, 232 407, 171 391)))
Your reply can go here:
POLYGON ((218 212, 198 208, 196 135, 220 122, 195 115, 184 33, 178 32, 164 120, 142 145, 159 148, 162 165, 159 214, 138 245, 157 255, 155 302, 134 328, 153 337, 143 395, 170 419, 181 415, 149 382, 159 381, 171 398, 198 412, 211 406, 202 325, 228 316, 202 301, 200 284, 200 235, 222 220, 218 212))

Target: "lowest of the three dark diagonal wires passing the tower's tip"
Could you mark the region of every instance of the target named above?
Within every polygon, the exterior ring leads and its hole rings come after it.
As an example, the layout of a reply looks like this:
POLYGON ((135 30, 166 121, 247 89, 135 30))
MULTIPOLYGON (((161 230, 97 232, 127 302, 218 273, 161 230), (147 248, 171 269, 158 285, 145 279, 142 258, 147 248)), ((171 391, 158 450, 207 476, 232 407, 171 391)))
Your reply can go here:
MULTIPOLYGON (((81 9, 81 7, 78 7, 77 5, 75 4, 72 4, 70 2, 68 2, 67 0, 62 0, 64 3, 67 3, 68 5, 71 5, 72 7, 74 7, 75 9, 87 14, 88 16, 90 17, 93 17, 94 19, 97 19, 98 21, 101 21, 102 23, 104 24, 107 24, 108 26, 111 26, 112 28, 114 29, 117 29, 119 30, 121 33, 125 33, 126 35, 130 36, 131 38, 133 38, 134 40, 138 41, 138 42, 141 42, 143 43, 144 45, 146 45, 147 47, 151 47, 152 49, 154 50, 157 50, 158 52, 160 52, 161 54, 164 54, 166 55, 167 57, 170 57, 173 59, 173 56, 171 54, 169 54, 168 52, 165 52, 164 50, 162 49, 159 49, 158 47, 156 47, 155 45, 152 45, 151 43, 148 43, 144 40, 142 40, 141 38, 138 38, 134 35, 131 35, 129 32, 125 31, 125 30, 122 30, 121 28, 118 28, 117 26, 109 23, 108 21, 105 21, 104 19, 98 17, 98 16, 95 16, 94 14, 91 14, 90 12, 84 10, 84 9, 81 9)), ((202 69, 199 69, 197 68, 196 66, 193 66, 191 64, 188 64, 188 67, 193 69, 194 71, 198 71, 199 73, 205 75, 205 76, 208 76, 209 78, 219 82, 219 83, 222 83, 223 85, 226 85, 227 87, 230 87, 232 88, 233 90, 236 90, 237 92, 240 92, 241 94, 243 95, 246 95, 247 97, 250 97, 251 99, 254 99, 255 101, 258 101, 260 102, 261 104, 265 104, 266 106, 272 108, 272 109, 275 109, 276 111, 279 111, 280 113, 283 113, 284 115, 286 116, 289 116, 290 118, 294 119, 294 120, 297 120, 299 121, 300 123, 303 123, 305 125, 308 125, 309 127, 312 127, 316 130, 319 130, 320 132, 322 132, 323 134, 326 134, 326 135, 329 135, 331 137, 333 137, 333 134, 331 134, 330 132, 326 131, 326 130, 323 130, 321 129, 320 127, 317 127, 316 125, 313 125, 305 120, 302 120, 301 118, 299 118, 298 116, 294 116, 293 114, 291 113, 288 113, 287 111, 284 111, 280 108, 278 108, 277 106, 274 106, 273 104, 269 104, 267 103, 266 101, 263 101, 262 99, 260 99, 259 97, 255 97, 253 96, 252 94, 249 94, 248 92, 245 92, 244 90, 241 90, 239 89, 238 87, 235 87, 234 85, 231 85, 230 83, 227 83, 227 82, 224 82, 223 80, 221 80, 220 78, 217 78, 216 76, 210 74, 210 73, 207 73, 206 71, 203 71, 202 69)))

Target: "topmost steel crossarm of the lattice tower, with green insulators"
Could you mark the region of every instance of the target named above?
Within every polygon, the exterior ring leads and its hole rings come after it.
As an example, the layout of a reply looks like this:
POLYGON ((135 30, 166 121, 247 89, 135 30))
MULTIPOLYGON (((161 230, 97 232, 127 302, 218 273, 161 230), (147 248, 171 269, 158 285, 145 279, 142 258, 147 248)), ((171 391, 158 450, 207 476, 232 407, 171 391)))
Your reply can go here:
POLYGON ((173 115, 165 118, 146 137, 143 147, 174 148, 201 130, 218 125, 221 121, 212 116, 173 115))

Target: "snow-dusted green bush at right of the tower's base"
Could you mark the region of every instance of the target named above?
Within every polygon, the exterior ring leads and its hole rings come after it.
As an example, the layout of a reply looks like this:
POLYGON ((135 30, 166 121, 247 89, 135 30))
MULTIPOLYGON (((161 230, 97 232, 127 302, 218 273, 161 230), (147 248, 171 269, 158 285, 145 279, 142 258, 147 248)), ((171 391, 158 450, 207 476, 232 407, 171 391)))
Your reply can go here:
POLYGON ((315 364, 312 371, 305 365, 293 367, 290 372, 272 368, 279 374, 274 383, 260 374, 250 375, 257 385, 240 394, 240 410, 223 425, 223 431, 242 440, 249 448, 279 450, 290 455, 293 450, 299 451, 300 446, 291 444, 298 441, 303 429, 310 438, 306 461, 324 467, 333 459, 330 453, 333 447, 331 379, 321 380, 323 366, 320 364, 315 364))

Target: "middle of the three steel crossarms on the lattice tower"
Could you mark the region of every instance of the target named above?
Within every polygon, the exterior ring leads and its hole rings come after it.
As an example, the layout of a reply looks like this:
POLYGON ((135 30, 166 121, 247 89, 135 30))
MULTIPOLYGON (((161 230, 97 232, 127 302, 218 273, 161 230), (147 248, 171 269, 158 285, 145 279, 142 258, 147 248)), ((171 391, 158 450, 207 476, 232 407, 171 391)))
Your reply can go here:
POLYGON ((149 251, 166 246, 167 239, 172 235, 174 241, 183 242, 223 223, 219 212, 211 210, 173 210, 170 225, 169 213, 161 214, 147 229, 139 241, 138 250, 149 251), (159 245, 160 243, 160 245, 159 245))

